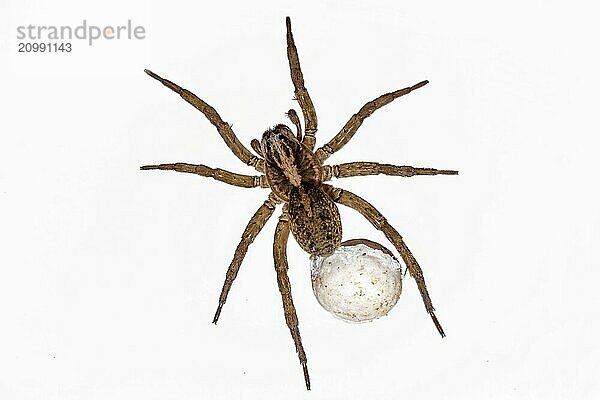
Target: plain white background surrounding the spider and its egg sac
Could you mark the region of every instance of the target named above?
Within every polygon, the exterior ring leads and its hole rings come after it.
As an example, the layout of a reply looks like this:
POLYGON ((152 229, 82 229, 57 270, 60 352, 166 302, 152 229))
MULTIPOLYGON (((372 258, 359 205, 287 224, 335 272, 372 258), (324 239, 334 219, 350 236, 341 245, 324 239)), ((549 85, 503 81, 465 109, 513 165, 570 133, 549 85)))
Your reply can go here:
MULTIPOLYGON (((3 1, 0 398, 598 398, 598 14, 566 3, 3 1), (311 392, 276 285, 275 218, 210 323, 266 192, 139 171, 179 161, 252 174, 142 70, 211 103, 248 146, 299 111, 286 15, 319 145, 364 102, 431 82, 377 111, 331 162, 460 170, 335 182, 405 237, 445 339, 410 278, 387 317, 334 319, 290 239, 311 392), (17 53, 17 26, 84 18, 131 19, 147 37, 17 53)), ((345 239, 392 247, 341 214, 345 239)))

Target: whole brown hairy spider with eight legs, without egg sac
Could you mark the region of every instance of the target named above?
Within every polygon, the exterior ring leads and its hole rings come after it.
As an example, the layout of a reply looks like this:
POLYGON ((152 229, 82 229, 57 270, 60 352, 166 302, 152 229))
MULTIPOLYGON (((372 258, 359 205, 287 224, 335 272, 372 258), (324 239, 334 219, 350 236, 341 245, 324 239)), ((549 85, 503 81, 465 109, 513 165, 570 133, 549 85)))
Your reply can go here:
POLYGON ((252 140, 251 146, 258 155, 256 156, 244 147, 233 133, 231 126, 221 119, 213 107, 192 92, 181 88, 169 80, 161 78, 149 70, 145 70, 148 75, 178 93, 185 101, 200 110, 217 128, 217 131, 219 131, 219 134, 225 140, 225 143, 233 154, 242 160, 244 164, 254 167, 257 171, 261 172, 262 175, 241 175, 224 171, 220 168, 186 163, 146 165, 141 167, 141 169, 174 170, 211 177, 218 181, 244 188, 261 187, 271 189, 267 200, 252 216, 250 222, 248 222, 242 234, 242 240, 235 249, 233 260, 225 276, 225 283, 219 297, 219 305, 213 319, 213 323, 215 324, 219 319, 221 309, 227 300, 227 294, 237 276, 248 246, 254 241, 267 220, 271 217, 277 204, 283 203, 283 212, 279 217, 279 222, 275 229, 273 257, 275 259, 277 284, 281 292, 285 320, 294 339, 296 352, 298 353, 298 358, 304 372, 306 388, 310 390, 306 354, 304 353, 300 339, 298 317, 296 316, 296 309, 292 301, 291 285, 287 276, 286 245, 290 230, 300 247, 306 252, 311 255, 328 255, 340 245, 342 239, 342 224, 335 203, 343 204, 361 213, 376 229, 382 231, 394 247, 396 247, 408 271, 410 271, 410 275, 417 282, 425 309, 431 316, 439 333, 444 337, 444 331, 435 316, 435 310, 425 286, 423 271, 402 240, 402 236, 366 200, 347 190, 337 189, 323 182, 329 181, 332 177, 347 178, 377 174, 408 177, 437 174, 456 175, 458 172, 379 164, 376 162, 323 165, 324 161, 330 155, 348 143, 365 118, 398 97, 425 86, 428 81, 386 93, 366 103, 348 120, 346 125, 344 125, 342 130, 333 139, 316 151, 313 151, 315 147, 315 133, 317 132, 317 114, 308 91, 304 86, 304 78, 300 69, 300 61, 298 60, 298 52, 294 44, 289 17, 286 18, 286 27, 288 61, 294 84, 295 98, 300 104, 304 116, 304 134, 302 133, 298 115, 294 110, 289 110, 287 116, 294 124, 296 134, 294 135, 292 130, 286 125, 276 125, 274 128, 263 133, 260 142, 257 139, 252 140))

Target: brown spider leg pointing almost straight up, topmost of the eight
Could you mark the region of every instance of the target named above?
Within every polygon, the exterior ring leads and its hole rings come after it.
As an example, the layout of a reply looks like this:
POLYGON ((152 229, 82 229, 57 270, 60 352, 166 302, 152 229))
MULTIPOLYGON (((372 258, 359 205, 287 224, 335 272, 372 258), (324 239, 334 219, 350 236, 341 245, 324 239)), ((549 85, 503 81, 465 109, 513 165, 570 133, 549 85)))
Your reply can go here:
POLYGON ((287 29, 287 52, 290 64, 290 74, 294 84, 294 95, 302 109, 304 115, 304 140, 303 143, 312 151, 315 148, 315 133, 317 132, 317 112, 312 104, 308 90, 304 87, 304 76, 300 69, 300 59, 298 58, 298 49, 294 43, 292 34, 292 21, 286 17, 285 25, 287 29))

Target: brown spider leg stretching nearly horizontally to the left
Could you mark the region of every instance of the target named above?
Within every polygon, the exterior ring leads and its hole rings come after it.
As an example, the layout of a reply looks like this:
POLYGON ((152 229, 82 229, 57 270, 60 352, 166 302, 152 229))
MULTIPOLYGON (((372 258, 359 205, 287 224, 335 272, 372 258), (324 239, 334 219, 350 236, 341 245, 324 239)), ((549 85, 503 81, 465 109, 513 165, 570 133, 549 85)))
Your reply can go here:
POLYGON ((233 186, 239 186, 244 188, 262 187, 268 188, 269 184, 264 175, 261 176, 249 176, 236 174, 234 172, 225 171, 221 168, 210 168, 206 165, 195 165, 186 163, 174 163, 174 164, 158 164, 158 165, 144 165, 140 167, 141 170, 147 171, 151 169, 170 170, 177 172, 185 172, 188 174, 196 174, 200 176, 206 176, 209 178, 216 179, 221 182, 228 183, 233 186))

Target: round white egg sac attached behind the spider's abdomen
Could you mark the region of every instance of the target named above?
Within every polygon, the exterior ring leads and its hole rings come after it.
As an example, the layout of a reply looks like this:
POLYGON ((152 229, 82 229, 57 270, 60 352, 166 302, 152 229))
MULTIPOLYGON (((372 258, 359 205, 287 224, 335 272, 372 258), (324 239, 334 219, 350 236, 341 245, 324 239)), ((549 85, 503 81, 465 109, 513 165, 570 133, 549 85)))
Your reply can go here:
POLYGON ((317 301, 348 322, 386 315, 402 291, 402 267, 391 254, 378 243, 358 239, 342 243, 329 256, 311 257, 317 301))

